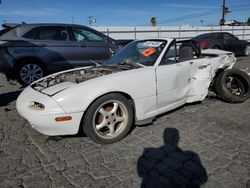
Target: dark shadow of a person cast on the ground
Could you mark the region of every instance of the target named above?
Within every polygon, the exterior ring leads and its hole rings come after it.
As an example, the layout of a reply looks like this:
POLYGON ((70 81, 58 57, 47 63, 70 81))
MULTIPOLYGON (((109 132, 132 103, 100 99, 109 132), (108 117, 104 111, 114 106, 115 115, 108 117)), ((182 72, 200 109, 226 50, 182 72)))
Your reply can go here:
POLYGON ((141 187, 199 188, 208 178, 199 156, 178 147, 177 129, 165 129, 163 137, 164 146, 144 149, 138 160, 141 187))

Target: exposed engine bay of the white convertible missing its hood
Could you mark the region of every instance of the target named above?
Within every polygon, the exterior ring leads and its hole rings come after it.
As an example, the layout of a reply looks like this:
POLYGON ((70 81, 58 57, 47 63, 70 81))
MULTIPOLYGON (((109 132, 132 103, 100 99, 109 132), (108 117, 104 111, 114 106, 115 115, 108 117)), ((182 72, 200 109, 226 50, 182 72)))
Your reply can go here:
POLYGON ((48 87, 63 83, 81 83, 93 78, 100 76, 120 72, 122 69, 115 66, 100 66, 100 67, 90 67, 90 68, 79 68, 71 71, 61 72, 58 74, 53 74, 45 79, 38 81, 32 85, 33 89, 37 91, 42 91, 48 87))

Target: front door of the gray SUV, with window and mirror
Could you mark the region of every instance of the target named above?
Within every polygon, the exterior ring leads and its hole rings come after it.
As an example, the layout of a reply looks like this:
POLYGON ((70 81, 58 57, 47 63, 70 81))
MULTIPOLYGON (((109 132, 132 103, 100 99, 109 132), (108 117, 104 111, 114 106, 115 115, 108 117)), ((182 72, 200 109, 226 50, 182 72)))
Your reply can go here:
POLYGON ((103 63, 114 53, 112 44, 100 33, 85 27, 71 27, 71 34, 76 66, 93 64, 93 61, 103 63))

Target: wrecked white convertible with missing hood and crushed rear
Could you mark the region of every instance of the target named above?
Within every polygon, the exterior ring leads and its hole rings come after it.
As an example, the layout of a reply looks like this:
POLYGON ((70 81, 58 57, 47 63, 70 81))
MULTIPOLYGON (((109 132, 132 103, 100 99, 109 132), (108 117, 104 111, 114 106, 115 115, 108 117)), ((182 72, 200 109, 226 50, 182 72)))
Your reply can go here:
MULTIPOLYGON (((227 102, 249 97, 249 77, 233 53, 200 51, 193 41, 134 41, 106 64, 42 78, 18 97, 18 112, 45 135, 83 130, 95 142, 122 139, 133 124, 202 101, 213 90, 227 102)), ((216 110, 216 109, 215 109, 216 110)))

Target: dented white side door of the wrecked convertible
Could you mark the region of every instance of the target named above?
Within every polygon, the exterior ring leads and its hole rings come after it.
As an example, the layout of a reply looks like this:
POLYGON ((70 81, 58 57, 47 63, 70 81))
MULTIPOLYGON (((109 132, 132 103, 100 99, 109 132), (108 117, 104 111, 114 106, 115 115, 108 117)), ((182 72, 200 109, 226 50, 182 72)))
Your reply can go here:
POLYGON ((165 111, 184 104, 188 92, 192 61, 176 62, 176 44, 173 42, 156 68, 157 109, 165 111))

